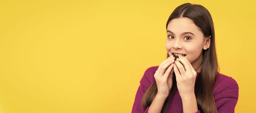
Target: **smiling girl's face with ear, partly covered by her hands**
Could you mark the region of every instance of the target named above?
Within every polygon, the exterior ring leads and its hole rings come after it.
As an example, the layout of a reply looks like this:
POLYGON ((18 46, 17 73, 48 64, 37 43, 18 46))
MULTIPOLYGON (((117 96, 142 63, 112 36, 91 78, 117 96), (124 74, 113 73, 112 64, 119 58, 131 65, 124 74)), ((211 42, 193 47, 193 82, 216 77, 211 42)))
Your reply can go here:
POLYGON ((202 61, 203 48, 209 48, 210 44, 207 43, 210 43, 210 38, 205 38, 200 28, 190 18, 174 18, 169 22, 165 47, 170 56, 186 55, 191 65, 197 67, 202 61))

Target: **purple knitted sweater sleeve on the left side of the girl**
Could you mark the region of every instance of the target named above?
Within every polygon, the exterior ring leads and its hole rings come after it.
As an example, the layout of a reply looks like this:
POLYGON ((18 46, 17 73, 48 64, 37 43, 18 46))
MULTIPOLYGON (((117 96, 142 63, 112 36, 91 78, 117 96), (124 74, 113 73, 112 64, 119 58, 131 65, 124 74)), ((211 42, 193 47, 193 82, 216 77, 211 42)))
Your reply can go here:
POLYGON ((140 86, 135 96, 132 113, 147 113, 149 107, 147 107, 146 109, 143 109, 142 98, 144 93, 147 91, 147 89, 151 86, 151 84, 153 84, 155 80, 154 74, 156 70, 157 70, 157 67, 149 67, 145 71, 144 76, 140 80, 140 86))

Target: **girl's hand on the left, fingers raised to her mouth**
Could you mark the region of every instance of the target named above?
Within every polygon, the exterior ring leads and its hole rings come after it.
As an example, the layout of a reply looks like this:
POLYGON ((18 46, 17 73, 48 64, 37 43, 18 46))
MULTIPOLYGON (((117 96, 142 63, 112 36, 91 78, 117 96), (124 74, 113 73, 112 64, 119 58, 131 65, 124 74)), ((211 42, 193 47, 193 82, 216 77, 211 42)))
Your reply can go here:
POLYGON ((167 98, 173 85, 173 55, 164 60, 154 74, 157 83, 157 95, 167 98))

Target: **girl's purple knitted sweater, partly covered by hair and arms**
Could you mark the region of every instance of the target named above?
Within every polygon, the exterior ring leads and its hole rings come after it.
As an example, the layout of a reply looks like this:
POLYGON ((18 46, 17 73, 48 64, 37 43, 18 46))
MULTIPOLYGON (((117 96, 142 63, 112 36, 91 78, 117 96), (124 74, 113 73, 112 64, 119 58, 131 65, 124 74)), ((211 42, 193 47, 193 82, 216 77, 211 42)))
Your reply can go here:
MULTIPOLYGON (((141 101, 144 93, 155 82, 154 74, 157 69, 158 66, 149 67, 145 71, 135 96, 132 113, 147 113, 149 107, 143 109, 141 101)), ((233 78, 218 73, 213 95, 219 113, 234 113, 238 99, 238 85, 233 78)), ((171 98, 167 113, 183 113, 182 100, 177 90, 171 98)), ((198 110, 197 113, 200 111, 198 110)))

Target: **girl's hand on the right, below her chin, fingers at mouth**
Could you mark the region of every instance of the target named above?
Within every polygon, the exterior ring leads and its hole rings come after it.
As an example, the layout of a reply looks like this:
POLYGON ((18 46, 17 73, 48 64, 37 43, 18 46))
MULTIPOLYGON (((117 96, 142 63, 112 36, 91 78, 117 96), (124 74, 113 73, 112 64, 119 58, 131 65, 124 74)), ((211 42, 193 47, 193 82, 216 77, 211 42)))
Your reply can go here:
POLYGON ((195 95, 197 72, 186 57, 179 56, 174 63, 173 69, 181 98, 186 98, 189 95, 195 95))

